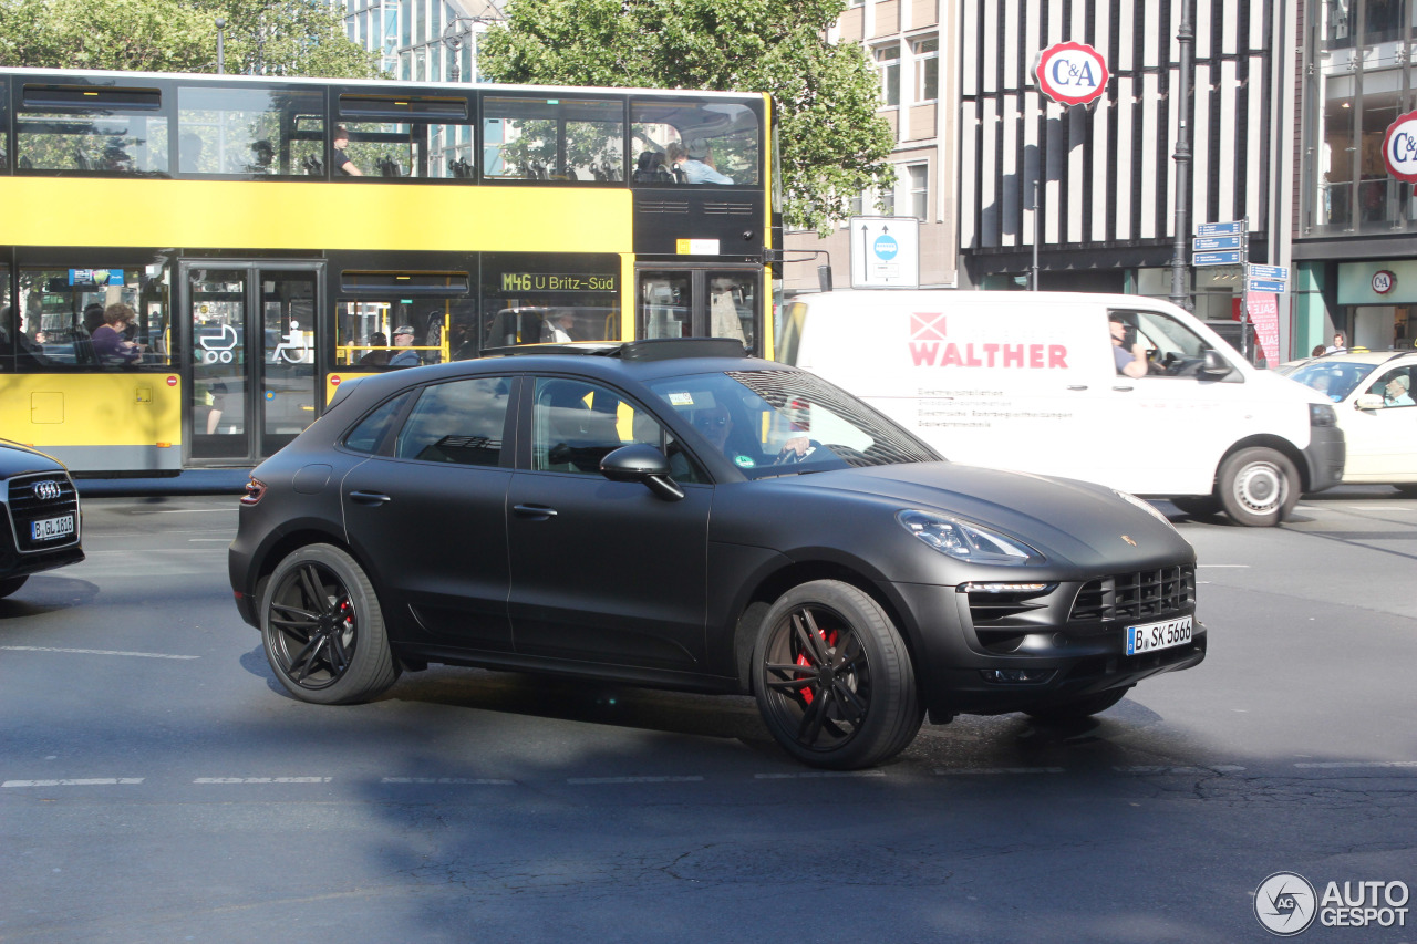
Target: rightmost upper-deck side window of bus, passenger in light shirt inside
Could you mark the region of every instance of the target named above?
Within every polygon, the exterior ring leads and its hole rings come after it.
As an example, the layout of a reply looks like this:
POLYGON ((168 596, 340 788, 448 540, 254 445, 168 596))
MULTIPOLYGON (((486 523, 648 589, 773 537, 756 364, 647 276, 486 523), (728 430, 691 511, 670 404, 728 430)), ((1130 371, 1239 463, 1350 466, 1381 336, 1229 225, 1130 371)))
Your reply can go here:
POLYGON ((747 105, 632 102, 629 115, 635 183, 758 183, 758 116, 747 105))

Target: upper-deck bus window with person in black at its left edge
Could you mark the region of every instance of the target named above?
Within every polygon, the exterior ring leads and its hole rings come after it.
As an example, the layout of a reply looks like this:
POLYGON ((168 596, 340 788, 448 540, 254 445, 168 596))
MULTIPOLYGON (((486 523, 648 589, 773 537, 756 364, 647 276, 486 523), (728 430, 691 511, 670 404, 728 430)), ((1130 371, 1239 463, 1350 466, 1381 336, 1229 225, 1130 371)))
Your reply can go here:
POLYGON ((472 180, 470 103, 461 96, 340 95, 349 157, 370 177, 472 180))

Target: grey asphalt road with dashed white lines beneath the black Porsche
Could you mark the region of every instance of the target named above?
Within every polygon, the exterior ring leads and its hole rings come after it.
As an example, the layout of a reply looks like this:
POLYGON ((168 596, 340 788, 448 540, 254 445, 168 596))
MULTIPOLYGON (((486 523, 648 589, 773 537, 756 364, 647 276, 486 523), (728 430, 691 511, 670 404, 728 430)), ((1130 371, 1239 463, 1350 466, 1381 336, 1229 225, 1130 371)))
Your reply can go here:
MULTIPOLYGON (((1282 529, 1175 515, 1202 666, 852 775, 748 699, 434 668, 298 703, 231 604, 235 520, 88 498, 89 560, 0 601, 0 941, 1263 941, 1271 873, 1417 887, 1417 500, 1390 489, 1282 529)), ((1417 941, 1407 907, 1298 940, 1417 941)))

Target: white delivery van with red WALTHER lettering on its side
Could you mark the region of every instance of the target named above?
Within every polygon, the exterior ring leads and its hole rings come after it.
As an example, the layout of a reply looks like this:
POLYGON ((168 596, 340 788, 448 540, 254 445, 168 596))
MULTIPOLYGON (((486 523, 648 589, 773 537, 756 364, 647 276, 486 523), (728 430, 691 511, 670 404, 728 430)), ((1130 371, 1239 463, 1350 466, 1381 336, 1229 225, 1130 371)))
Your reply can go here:
POLYGON ((1343 472, 1328 400, 1136 295, 805 295, 784 305, 778 357, 955 462, 1102 482, 1241 524, 1280 523, 1343 472), (1145 376, 1119 371, 1111 320, 1144 346, 1145 376))

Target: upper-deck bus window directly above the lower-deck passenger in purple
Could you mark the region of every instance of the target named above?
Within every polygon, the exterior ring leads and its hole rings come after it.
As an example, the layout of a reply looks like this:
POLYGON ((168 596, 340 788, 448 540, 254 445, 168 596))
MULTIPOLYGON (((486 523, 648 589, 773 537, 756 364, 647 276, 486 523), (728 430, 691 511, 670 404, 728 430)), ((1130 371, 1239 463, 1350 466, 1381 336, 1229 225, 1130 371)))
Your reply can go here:
POLYGON ((26 85, 16 123, 24 170, 102 174, 169 169, 167 118, 157 89, 26 85))

